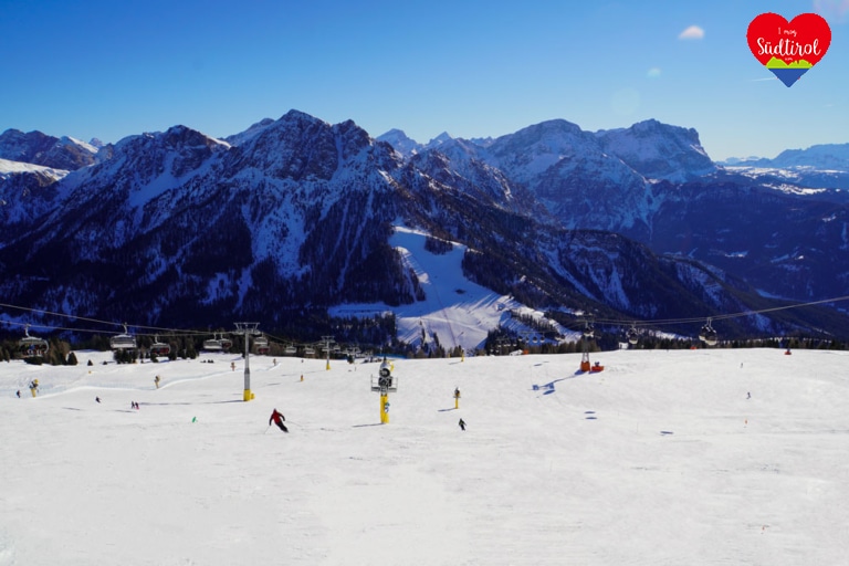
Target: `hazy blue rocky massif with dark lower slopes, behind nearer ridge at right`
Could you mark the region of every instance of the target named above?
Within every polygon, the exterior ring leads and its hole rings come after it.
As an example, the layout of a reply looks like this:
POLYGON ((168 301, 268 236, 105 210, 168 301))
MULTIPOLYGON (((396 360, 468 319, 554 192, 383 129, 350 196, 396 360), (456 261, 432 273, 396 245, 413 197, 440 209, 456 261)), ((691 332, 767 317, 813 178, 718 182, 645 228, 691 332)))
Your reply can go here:
MULTIPOLYGON (((839 150, 827 154, 839 165, 839 150)), ((534 212, 539 221, 622 233, 657 252, 745 273, 767 295, 840 296, 849 277, 840 252, 849 191, 827 188, 849 182, 849 167, 720 167, 695 130, 657 120, 595 134, 548 120, 488 147, 443 138, 416 159, 441 159, 434 155, 446 156, 451 170, 485 164, 505 193, 544 209, 534 212)))

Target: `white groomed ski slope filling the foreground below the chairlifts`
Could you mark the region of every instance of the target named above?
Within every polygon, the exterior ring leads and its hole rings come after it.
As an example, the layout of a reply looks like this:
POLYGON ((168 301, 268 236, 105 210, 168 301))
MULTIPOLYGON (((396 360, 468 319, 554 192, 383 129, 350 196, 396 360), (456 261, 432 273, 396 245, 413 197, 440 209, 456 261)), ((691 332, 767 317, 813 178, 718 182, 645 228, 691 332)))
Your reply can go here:
POLYGON ((846 352, 399 359, 386 424, 374 363, 252 356, 244 402, 239 355, 76 356, 0 363, 2 566, 849 555, 846 352))

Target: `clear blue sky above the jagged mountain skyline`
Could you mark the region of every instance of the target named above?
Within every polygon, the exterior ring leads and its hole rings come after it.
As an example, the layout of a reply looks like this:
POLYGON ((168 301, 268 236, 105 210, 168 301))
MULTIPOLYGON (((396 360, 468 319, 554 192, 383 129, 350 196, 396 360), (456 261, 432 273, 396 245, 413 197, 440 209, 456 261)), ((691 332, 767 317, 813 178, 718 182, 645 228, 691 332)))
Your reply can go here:
POLYGON ((714 159, 773 157, 849 142, 848 32, 849 0, 0 0, 0 130, 223 137, 296 108, 428 142, 656 118, 714 159), (830 24, 793 87, 748 50, 762 12, 830 24))

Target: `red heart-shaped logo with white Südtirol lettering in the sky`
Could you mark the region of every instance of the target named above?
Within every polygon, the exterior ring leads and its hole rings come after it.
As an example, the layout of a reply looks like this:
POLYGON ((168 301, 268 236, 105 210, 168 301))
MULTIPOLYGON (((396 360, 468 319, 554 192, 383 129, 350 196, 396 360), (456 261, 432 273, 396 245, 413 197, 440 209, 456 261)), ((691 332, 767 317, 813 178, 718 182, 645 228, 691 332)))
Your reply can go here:
POLYGON ((828 51, 831 28, 816 13, 800 13, 788 22, 777 13, 766 12, 748 24, 746 40, 755 59, 793 86, 828 51))

